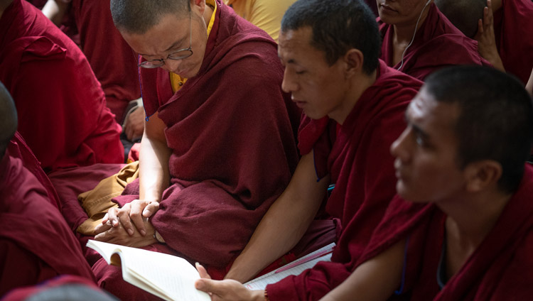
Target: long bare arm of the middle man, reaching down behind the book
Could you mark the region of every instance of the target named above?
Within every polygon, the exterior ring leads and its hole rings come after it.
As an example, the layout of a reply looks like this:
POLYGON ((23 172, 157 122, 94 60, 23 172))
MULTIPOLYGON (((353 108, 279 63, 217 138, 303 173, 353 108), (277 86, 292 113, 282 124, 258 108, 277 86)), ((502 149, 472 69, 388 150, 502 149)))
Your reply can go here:
POLYGON ((244 283, 293 248, 313 221, 328 183, 329 176, 316 181, 313 152, 303 155, 289 186, 266 212, 226 278, 244 283))

